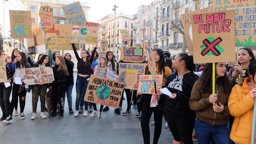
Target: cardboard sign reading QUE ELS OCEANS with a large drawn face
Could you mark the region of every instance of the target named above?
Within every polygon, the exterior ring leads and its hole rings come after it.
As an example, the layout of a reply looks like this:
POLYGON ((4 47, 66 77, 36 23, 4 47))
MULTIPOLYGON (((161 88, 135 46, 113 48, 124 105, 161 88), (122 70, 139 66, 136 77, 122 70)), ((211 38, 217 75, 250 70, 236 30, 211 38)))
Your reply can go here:
POLYGON ((139 76, 144 74, 146 63, 119 63, 119 81, 125 83, 125 88, 137 90, 139 76))

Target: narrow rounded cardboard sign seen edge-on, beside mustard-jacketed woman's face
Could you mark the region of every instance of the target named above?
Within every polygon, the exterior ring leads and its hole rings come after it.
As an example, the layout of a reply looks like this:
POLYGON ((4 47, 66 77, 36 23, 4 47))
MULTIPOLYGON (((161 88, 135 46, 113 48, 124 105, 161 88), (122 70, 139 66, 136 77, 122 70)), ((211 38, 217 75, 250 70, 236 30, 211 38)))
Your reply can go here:
POLYGON ((147 45, 145 45, 145 51, 146 51, 146 54, 147 54, 148 70, 150 71, 150 73, 153 75, 153 78, 154 78, 155 74, 156 74, 155 56, 154 56, 154 53, 153 53, 152 49, 150 47, 148 47, 147 45))

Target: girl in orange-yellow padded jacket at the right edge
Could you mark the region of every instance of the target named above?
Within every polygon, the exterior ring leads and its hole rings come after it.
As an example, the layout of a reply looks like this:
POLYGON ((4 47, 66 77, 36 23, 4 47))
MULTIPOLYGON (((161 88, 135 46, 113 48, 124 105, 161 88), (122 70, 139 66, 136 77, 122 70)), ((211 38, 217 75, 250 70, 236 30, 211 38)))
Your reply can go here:
POLYGON ((229 112, 235 117, 230 139, 237 144, 248 144, 251 141, 253 106, 256 99, 256 61, 249 64, 248 74, 249 77, 240 79, 232 88, 228 98, 229 112))

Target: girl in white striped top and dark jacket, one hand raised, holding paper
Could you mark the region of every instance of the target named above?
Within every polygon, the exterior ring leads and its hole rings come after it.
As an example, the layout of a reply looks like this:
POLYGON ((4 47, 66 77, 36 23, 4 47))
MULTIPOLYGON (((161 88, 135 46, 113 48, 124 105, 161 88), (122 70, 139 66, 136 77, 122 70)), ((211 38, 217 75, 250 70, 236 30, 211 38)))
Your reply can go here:
POLYGON ((26 88, 23 83, 23 76, 25 74, 25 69, 30 68, 30 64, 27 61, 26 55, 24 52, 19 52, 17 54, 17 62, 12 63, 11 58, 7 58, 8 61, 8 69, 13 74, 13 92, 12 92, 12 101, 9 109, 9 116, 3 121, 6 123, 13 122, 13 109, 15 104, 18 102, 19 97, 19 106, 20 106, 20 119, 25 119, 25 115, 23 113, 25 108, 25 98, 26 98, 26 88))

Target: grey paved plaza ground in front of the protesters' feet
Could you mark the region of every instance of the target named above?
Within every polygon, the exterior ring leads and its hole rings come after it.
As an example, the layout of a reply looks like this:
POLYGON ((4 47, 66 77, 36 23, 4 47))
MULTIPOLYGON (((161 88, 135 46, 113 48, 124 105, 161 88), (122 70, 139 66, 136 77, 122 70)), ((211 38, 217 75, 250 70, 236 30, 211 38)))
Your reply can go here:
MULTIPOLYGON (((74 73, 74 79, 76 80, 74 73)), ((72 106, 75 110, 76 89, 75 85, 72 92, 72 106)), ((19 116, 13 116, 13 123, 6 124, 0 122, 0 143, 8 144, 143 144, 141 132, 141 124, 138 118, 135 118, 137 108, 131 109, 129 115, 116 115, 114 108, 103 112, 102 118, 78 117, 68 113, 67 99, 65 101, 65 112, 63 119, 57 117, 46 119, 40 118, 40 101, 37 107, 37 118, 31 120, 32 114, 32 94, 27 93, 25 116, 26 119, 21 120, 19 116)), ((99 109, 99 105, 97 108, 99 109)), ((127 100, 123 101, 123 109, 126 110, 127 100)), ((19 104, 18 104, 19 110, 19 104)), ((2 112, 0 112, 2 113, 2 112)), ((153 115, 150 122, 153 121, 153 115)), ((163 117, 163 126, 164 126, 163 117)), ((150 142, 153 142, 154 127, 150 126, 150 142)), ((172 144, 172 135, 168 129, 162 129, 159 143, 172 144)))

